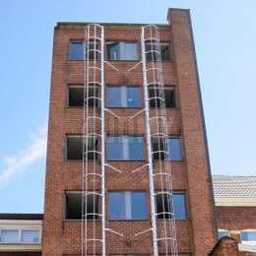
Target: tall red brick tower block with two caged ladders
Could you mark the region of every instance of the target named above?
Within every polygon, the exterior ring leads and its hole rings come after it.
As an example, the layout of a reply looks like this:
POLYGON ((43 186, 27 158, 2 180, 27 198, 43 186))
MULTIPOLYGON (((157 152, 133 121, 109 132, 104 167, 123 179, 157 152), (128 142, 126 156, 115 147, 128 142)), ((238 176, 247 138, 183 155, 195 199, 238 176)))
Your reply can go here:
POLYGON ((167 20, 57 24, 43 256, 202 256, 214 247, 190 14, 169 9, 167 20))

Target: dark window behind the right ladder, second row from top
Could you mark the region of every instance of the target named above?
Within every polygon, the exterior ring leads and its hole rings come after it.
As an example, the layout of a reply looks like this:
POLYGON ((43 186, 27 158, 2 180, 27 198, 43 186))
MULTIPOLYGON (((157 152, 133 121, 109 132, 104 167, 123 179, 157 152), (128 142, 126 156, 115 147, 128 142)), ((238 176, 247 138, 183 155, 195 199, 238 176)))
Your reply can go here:
POLYGON ((165 107, 167 108, 175 108, 176 107, 176 96, 174 88, 164 88, 163 92, 160 88, 149 88, 149 97, 150 99, 150 106, 160 108, 162 104, 160 104, 161 94, 164 94, 164 102, 165 107))

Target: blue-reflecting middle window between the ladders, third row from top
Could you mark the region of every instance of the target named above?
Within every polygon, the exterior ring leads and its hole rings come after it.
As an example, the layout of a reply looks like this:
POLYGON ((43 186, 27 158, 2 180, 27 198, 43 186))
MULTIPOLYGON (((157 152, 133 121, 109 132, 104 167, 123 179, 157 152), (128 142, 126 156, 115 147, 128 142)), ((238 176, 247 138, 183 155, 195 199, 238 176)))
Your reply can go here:
POLYGON ((108 160, 144 160, 143 137, 109 136, 107 138, 108 160))

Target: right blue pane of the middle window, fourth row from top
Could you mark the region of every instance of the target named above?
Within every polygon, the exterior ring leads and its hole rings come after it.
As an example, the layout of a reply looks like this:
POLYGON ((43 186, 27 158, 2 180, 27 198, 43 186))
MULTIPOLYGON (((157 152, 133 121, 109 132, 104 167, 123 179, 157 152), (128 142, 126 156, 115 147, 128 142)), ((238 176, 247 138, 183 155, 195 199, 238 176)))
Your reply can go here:
POLYGON ((132 220, 147 220, 146 193, 132 192, 132 220))

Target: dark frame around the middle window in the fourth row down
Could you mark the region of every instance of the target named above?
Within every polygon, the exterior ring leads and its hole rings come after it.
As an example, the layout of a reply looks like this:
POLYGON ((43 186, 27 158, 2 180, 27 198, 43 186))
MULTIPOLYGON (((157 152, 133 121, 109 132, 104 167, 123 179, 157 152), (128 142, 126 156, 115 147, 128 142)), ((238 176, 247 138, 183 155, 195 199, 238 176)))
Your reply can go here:
POLYGON ((149 199, 148 199, 147 190, 143 190, 143 189, 141 189, 141 190, 112 190, 112 189, 107 190, 107 221, 108 222, 147 222, 147 221, 149 221, 150 212, 149 212, 148 200, 149 199), (147 211, 147 213, 146 213, 147 218, 146 219, 141 219, 141 220, 138 220, 138 219, 137 220, 136 219, 135 220, 134 219, 110 220, 109 219, 109 193, 122 193, 122 195, 124 196, 125 192, 129 192, 130 195, 132 193, 136 193, 136 192, 137 193, 144 193, 144 195, 145 195, 145 205, 146 205, 146 211, 147 211))

